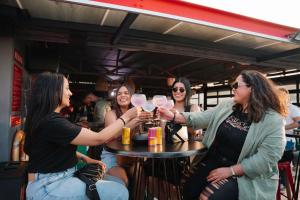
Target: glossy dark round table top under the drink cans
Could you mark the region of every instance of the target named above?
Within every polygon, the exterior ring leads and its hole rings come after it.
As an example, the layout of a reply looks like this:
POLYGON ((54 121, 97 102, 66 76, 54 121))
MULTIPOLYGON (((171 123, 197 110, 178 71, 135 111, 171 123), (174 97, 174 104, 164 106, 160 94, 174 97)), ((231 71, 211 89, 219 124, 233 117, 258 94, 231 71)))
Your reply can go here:
POLYGON ((207 151, 206 147, 198 141, 148 146, 147 144, 134 143, 123 145, 121 141, 114 140, 107 143, 105 149, 118 155, 146 158, 187 157, 205 153, 207 151))

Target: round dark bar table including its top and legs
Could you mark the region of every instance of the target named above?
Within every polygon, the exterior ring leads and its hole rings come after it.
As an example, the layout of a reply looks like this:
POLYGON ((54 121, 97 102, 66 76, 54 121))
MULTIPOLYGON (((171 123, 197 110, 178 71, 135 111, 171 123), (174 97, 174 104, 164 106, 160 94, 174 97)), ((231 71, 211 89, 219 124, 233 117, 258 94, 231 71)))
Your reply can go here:
MULTIPOLYGON (((123 145, 121 141, 114 140, 105 145, 105 149, 111 153, 115 153, 120 156, 134 157, 134 185, 130 191, 133 199, 149 198, 149 194, 158 193, 158 197, 161 196, 161 189, 164 190, 162 194, 164 198, 172 199, 174 193, 170 187, 170 184, 166 183, 169 177, 173 177, 175 182, 179 183, 178 169, 176 168, 179 159, 181 161, 186 157, 193 155, 205 155, 207 148, 199 141, 187 141, 178 142, 174 144, 165 144, 148 146, 148 144, 136 144, 131 141, 130 145, 123 145), (150 191, 149 175, 145 173, 145 168, 149 168, 150 176, 156 177, 157 183, 155 184, 154 178, 152 179, 152 190, 150 191), (143 179, 143 177, 147 177, 143 179), (146 180, 147 179, 147 180, 146 180), (163 181, 162 181, 163 180, 163 181), (167 181, 166 181, 167 180, 167 181), (143 182, 144 181, 144 182, 143 182), (142 187, 145 184, 145 191, 142 187), (162 185, 162 187, 160 187, 162 185), (155 188, 156 187, 156 188, 155 188), (144 195, 141 197, 141 195, 144 195)), ((188 159, 189 160, 189 159, 188 159)), ((174 185, 174 184, 173 184, 174 185)), ((182 199, 181 185, 176 184, 176 195, 178 199, 182 199)), ((153 196, 150 196, 153 198, 153 196)))

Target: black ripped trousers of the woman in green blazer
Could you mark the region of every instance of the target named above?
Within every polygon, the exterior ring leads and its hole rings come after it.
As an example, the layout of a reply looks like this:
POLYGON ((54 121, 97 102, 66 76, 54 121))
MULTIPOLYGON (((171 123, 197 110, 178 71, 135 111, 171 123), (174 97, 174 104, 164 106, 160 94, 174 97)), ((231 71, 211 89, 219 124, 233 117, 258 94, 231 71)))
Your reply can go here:
POLYGON ((207 182, 207 176, 210 171, 231 165, 231 163, 215 155, 211 159, 205 159, 185 183, 183 187, 183 199, 198 200, 200 194, 203 193, 210 200, 237 200, 238 184, 236 177, 227 178, 227 180, 214 185, 207 182))

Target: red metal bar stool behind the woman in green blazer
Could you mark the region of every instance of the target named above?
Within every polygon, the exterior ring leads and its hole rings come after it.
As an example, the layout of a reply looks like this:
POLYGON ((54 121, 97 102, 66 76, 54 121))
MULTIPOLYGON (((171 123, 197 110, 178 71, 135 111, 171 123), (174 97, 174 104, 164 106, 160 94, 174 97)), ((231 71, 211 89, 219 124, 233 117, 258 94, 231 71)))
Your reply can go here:
MULTIPOLYGON (((279 171, 282 171, 286 177, 286 193, 287 193, 288 199, 292 199, 290 192, 292 190, 292 195, 293 195, 293 197, 295 197, 295 185, 294 185, 294 180, 293 180, 293 175, 292 175, 291 163, 288 161, 287 162, 279 162, 278 169, 279 169, 279 171)), ((281 200, 280 181, 278 183, 276 199, 281 200)))

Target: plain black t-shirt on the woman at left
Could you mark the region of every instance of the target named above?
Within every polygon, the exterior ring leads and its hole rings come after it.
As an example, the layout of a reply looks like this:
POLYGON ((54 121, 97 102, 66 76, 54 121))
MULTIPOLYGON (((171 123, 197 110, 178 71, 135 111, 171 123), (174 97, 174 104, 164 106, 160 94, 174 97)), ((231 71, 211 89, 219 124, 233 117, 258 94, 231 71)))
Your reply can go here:
POLYGON ((70 142, 81 127, 72 124, 58 113, 51 113, 42 120, 33 133, 29 155, 29 172, 60 172, 76 165, 76 146, 70 142))

